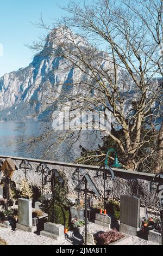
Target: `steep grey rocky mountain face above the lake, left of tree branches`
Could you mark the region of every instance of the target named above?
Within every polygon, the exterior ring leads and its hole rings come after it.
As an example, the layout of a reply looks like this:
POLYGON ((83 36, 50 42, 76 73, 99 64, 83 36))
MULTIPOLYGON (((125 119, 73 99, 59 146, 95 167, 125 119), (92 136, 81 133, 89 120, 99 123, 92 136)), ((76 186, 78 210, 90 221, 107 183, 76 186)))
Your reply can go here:
MULTIPOLYGON (((56 36, 59 32, 53 31, 48 35, 44 50, 55 47, 54 43, 51 43, 54 33, 56 36)), ((78 45, 86 47, 85 38, 76 34, 73 38, 78 45)), ((61 92, 65 90, 67 81, 73 84, 81 79, 82 74, 76 74, 73 68, 62 71, 65 65, 63 58, 46 56, 43 51, 34 57, 28 67, 0 78, 0 121, 30 120, 32 114, 42 110, 40 102, 47 96, 46 85, 62 84, 59 89, 61 92)))

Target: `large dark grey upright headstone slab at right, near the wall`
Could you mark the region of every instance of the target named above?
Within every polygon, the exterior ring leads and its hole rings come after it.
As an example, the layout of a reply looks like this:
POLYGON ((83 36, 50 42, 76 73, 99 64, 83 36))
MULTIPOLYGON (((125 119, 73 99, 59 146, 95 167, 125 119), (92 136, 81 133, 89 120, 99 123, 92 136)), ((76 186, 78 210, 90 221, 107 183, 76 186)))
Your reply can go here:
POLYGON ((140 199, 121 195, 120 209, 120 231, 136 236, 140 230, 140 199))

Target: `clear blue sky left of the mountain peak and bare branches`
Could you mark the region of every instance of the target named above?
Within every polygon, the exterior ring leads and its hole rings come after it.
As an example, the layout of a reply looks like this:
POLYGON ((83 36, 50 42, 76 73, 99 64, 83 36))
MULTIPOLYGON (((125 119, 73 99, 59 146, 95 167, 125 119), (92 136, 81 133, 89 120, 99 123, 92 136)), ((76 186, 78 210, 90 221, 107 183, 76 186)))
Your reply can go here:
POLYGON ((38 22, 42 13, 45 23, 51 24, 53 19, 65 14, 59 4, 65 5, 68 2, 69 0, 0 0, 0 77, 32 62, 33 52, 25 45, 32 44, 45 31, 36 28, 31 22, 38 22))

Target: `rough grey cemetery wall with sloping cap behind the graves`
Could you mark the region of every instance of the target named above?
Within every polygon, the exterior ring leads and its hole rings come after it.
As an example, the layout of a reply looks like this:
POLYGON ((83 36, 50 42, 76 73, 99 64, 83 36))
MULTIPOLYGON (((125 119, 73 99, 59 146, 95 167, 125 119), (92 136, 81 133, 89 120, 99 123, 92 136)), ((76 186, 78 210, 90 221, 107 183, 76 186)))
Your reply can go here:
MULTIPOLYGON (((5 157, 1 157, 4 161, 5 157)), ((19 167, 22 158, 12 158, 15 162, 17 168, 19 167)), ((39 172, 36 172, 37 166, 40 162, 44 162, 47 164, 50 170, 57 169, 60 174, 64 172, 67 182, 68 182, 68 189, 69 195, 67 197, 76 199, 77 193, 74 190, 76 187, 77 182, 74 184, 72 180, 72 175, 77 168, 82 169, 84 173, 88 173, 92 178, 93 182, 95 183, 96 187, 98 188, 99 192, 103 195, 103 178, 96 177, 96 172, 98 170, 97 166, 88 166, 88 165, 78 165, 78 164, 67 164, 67 163, 58 163, 58 162, 50 162, 50 161, 43 161, 43 160, 35 160, 35 159, 28 159, 29 163, 32 165, 32 170, 27 171, 27 180, 31 186, 38 187, 41 190, 41 175, 39 172)), ((151 200, 152 194, 148 190, 148 184, 150 180, 153 180, 154 175, 152 174, 141 174, 134 171, 127 171, 121 169, 113 169, 115 173, 115 180, 112 181, 110 177, 106 181, 106 190, 110 190, 109 198, 114 198, 120 200, 120 195, 133 195, 139 197, 141 200, 141 206, 146 206, 146 204, 151 200)), ((100 173, 102 174, 102 173, 100 173)), ((3 174, 0 172, 0 181, 2 180, 3 174)), ((22 180, 25 178, 24 170, 18 168, 14 172, 12 176, 12 181, 16 183, 16 187, 19 189, 22 180)), ((163 180, 163 179, 162 179, 163 180)), ((51 186, 50 183, 47 183, 45 186, 44 193, 51 193, 51 186)), ((155 200, 153 206, 157 206, 159 204, 158 197, 155 200)))

